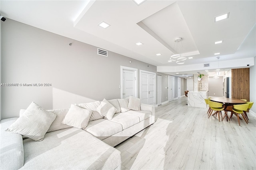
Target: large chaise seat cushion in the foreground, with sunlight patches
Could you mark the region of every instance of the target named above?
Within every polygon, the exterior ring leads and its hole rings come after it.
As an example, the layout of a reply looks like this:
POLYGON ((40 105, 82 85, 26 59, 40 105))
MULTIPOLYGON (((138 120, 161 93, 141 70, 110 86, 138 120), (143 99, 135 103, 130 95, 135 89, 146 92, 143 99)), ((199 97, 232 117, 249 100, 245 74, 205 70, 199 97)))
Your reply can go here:
POLYGON ((23 143, 24 170, 115 169, 121 164, 120 151, 79 128, 46 133, 42 142, 23 143))

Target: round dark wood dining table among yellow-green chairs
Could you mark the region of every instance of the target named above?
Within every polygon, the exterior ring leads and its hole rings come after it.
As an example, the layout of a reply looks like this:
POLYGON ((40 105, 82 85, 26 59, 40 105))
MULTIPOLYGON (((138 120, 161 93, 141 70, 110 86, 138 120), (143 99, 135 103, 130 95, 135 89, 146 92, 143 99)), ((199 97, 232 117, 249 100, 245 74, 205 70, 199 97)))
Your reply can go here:
MULTIPOLYGON (((237 99, 237 98, 212 97, 212 98, 209 98, 209 99, 211 101, 214 101, 214 102, 223 103, 224 104, 224 110, 226 110, 226 108, 228 106, 233 106, 234 104, 244 104, 244 103, 246 103, 245 100, 241 100, 241 99, 237 99)), ((215 114, 216 114, 216 112, 212 116, 214 116, 215 114)), ((224 117, 222 118, 222 120, 225 117, 227 117, 227 121, 228 121, 229 118, 228 118, 227 112, 224 115, 224 117)))

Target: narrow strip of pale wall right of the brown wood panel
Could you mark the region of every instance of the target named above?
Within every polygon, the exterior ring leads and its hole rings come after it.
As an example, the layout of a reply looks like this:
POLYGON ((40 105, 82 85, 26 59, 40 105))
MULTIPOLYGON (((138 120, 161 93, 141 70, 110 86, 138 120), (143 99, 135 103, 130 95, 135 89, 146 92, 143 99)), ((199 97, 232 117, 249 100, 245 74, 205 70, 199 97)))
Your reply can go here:
POLYGON ((254 57, 254 66, 250 67, 250 101, 254 102, 252 112, 256 113, 256 57, 254 57))

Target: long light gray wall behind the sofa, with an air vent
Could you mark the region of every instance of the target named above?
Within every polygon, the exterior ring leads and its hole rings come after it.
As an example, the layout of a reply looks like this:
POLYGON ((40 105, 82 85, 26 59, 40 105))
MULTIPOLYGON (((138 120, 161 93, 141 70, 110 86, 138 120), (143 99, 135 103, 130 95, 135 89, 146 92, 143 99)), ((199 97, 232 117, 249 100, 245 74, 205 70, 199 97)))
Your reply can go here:
POLYGON ((2 83, 52 85, 1 87, 2 119, 19 116, 32 101, 51 109, 53 87, 94 100, 120 98, 120 66, 156 72, 156 66, 110 51, 99 56, 95 46, 14 20, 2 23, 1 33, 2 83))

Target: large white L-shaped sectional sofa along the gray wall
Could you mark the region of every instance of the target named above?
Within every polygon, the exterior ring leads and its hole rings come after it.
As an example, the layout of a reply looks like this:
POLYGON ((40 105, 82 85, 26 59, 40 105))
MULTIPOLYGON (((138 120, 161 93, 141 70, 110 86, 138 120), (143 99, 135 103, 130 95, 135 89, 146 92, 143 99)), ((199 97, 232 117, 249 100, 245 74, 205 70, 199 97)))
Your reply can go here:
MULTIPOLYGON (((63 124, 67 115, 72 114, 71 107, 48 110, 56 118, 40 141, 6 132, 12 130, 18 118, 1 120, 0 169, 120 169, 121 155, 114 146, 153 124, 155 110, 154 106, 140 103, 133 108, 129 99, 113 99, 108 102, 115 113, 109 115, 106 107, 100 107, 103 101, 76 104, 90 110, 90 120, 84 128, 63 124), (106 117, 101 112, 107 112, 106 117)), ((28 114, 27 110, 20 111, 20 118, 28 114)))

